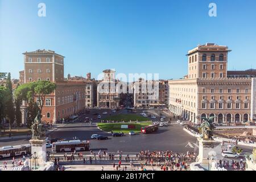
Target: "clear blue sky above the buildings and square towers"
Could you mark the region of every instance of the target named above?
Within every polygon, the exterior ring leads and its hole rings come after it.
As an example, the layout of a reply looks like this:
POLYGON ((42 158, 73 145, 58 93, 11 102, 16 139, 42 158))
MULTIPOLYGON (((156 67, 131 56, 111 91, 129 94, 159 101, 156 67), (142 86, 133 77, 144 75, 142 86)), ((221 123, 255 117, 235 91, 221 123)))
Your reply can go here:
POLYGON ((256 68, 255 19, 255 0, 0 0, 0 72, 18 78, 23 52, 51 49, 65 56, 65 76, 115 69, 180 78, 187 51, 207 42, 232 49, 229 70, 256 68))

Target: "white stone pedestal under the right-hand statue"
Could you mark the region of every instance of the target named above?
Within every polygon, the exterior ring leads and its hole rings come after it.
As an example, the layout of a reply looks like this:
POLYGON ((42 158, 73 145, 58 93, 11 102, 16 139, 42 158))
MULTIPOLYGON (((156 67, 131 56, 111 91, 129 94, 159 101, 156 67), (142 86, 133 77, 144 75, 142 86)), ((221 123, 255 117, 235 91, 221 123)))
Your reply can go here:
POLYGON ((214 151, 214 148, 219 144, 218 142, 215 142, 214 140, 210 139, 203 139, 203 138, 197 138, 199 141, 199 163, 200 164, 208 164, 211 162, 209 159, 209 152, 214 151))

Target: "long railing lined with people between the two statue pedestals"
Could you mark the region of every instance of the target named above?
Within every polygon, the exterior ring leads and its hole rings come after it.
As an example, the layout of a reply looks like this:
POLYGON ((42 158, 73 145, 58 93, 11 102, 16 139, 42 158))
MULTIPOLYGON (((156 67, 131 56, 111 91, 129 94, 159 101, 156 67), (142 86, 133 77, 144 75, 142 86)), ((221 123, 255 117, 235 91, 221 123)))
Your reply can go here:
POLYGON ((146 160, 148 163, 153 160, 154 163, 164 163, 164 162, 185 162, 185 163, 193 163, 197 161, 197 158, 188 158, 188 157, 146 157, 146 156, 48 156, 48 162, 59 162, 59 164, 63 163, 76 163, 76 164, 99 164, 99 163, 118 163, 119 160, 122 163, 144 163, 146 160))

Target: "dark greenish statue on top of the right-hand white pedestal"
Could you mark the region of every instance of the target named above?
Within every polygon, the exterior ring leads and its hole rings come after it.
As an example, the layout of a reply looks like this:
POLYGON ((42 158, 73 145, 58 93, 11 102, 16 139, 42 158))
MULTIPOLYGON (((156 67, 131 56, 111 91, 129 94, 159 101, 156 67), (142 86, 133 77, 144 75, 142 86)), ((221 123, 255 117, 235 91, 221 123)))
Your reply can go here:
POLYGON ((203 118, 203 123, 201 124, 201 137, 203 139, 212 139, 213 136, 213 129, 215 129, 215 126, 213 126, 213 119, 215 117, 210 118, 203 118))

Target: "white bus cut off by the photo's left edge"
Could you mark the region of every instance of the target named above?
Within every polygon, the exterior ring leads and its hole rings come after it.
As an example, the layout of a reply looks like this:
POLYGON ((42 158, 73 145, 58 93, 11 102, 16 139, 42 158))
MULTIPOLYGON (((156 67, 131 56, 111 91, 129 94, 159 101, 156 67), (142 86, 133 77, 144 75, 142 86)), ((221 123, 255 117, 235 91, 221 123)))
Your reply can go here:
POLYGON ((31 154, 30 144, 0 147, 0 159, 19 156, 19 155, 26 155, 26 154, 31 154))

